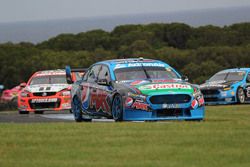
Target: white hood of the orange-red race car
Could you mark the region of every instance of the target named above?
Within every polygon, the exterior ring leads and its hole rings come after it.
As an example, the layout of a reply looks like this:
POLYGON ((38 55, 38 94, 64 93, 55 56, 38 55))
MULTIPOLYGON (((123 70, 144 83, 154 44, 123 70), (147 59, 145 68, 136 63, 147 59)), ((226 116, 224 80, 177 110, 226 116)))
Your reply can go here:
POLYGON ((29 85, 25 89, 31 93, 34 92, 59 92, 68 88, 68 84, 42 84, 42 85, 29 85))

